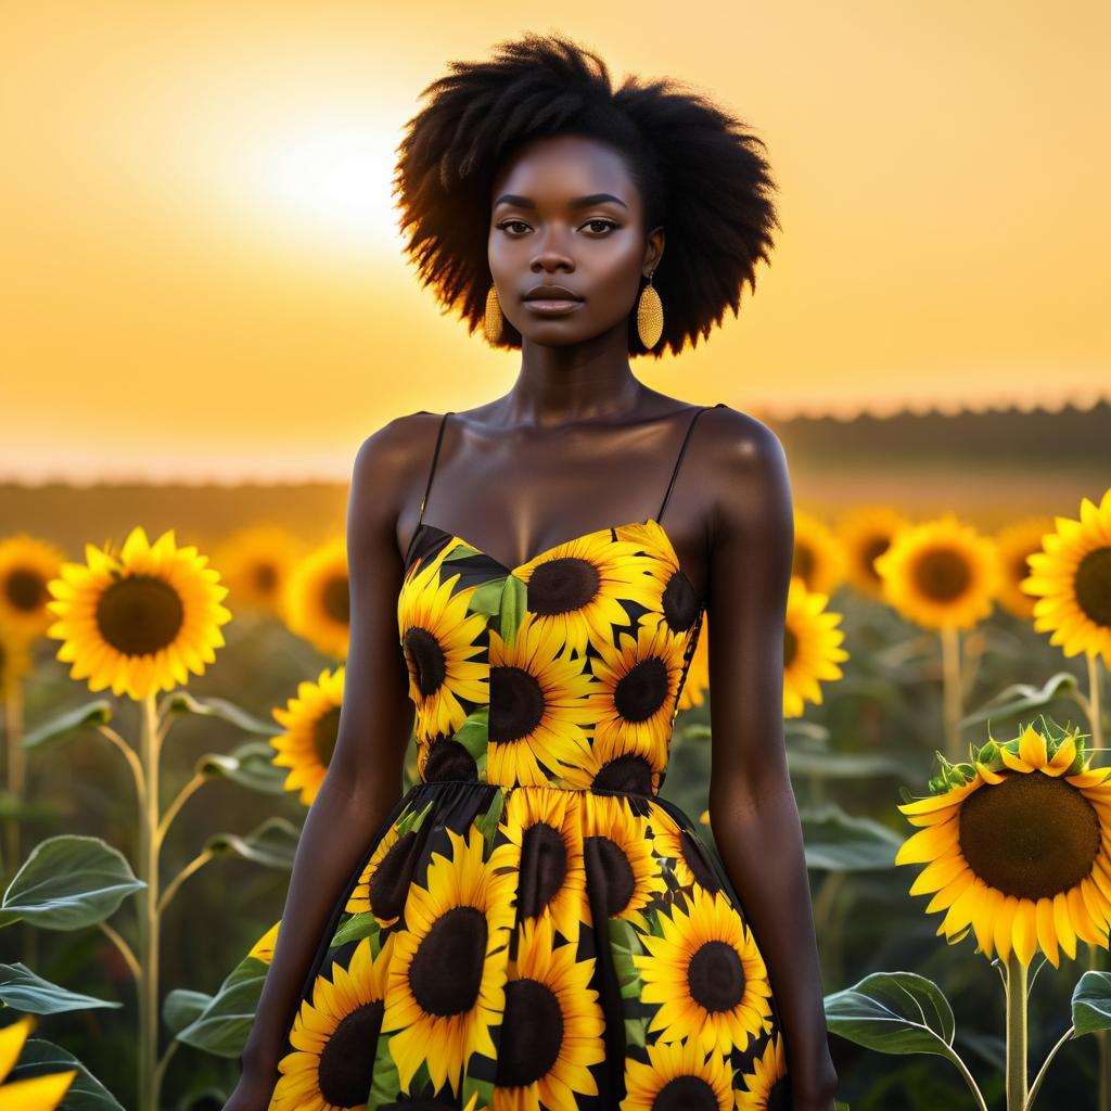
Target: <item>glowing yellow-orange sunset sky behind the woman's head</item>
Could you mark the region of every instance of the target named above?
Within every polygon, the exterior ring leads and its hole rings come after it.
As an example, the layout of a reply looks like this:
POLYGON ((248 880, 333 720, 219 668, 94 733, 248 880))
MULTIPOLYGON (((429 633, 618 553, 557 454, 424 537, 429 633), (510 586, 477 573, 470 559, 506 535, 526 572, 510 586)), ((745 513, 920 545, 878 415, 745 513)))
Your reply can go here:
POLYGON ((392 416, 504 392, 519 356, 418 289, 389 193, 424 84, 526 30, 768 143, 772 264, 709 343, 634 360, 653 388, 772 417, 1111 397, 1111 6, 528 8, 9 0, 0 480, 343 479, 392 416))

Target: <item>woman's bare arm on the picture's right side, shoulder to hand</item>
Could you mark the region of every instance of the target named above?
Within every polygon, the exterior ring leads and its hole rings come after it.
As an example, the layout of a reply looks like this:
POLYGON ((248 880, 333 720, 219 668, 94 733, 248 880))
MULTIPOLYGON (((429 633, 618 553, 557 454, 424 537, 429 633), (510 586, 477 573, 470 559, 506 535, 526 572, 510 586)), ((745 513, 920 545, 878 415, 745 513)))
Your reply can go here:
POLYGON ((714 491, 707 609, 710 823, 768 969, 792 1107, 832 1111, 837 1072, 783 739, 784 614, 794 550, 790 479, 769 428, 743 413, 720 412, 715 434, 707 438, 712 459, 701 464, 714 491))

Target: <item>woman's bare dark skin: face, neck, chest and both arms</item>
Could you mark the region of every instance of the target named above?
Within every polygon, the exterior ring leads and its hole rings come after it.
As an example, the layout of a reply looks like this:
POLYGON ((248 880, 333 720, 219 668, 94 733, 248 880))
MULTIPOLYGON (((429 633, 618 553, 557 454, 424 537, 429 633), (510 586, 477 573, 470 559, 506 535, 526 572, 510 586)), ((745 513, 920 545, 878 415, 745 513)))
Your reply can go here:
MULTIPOLYGON (((685 402, 633 373, 630 316, 644 278, 661 277, 668 260, 664 229, 645 227, 643 197, 618 149, 570 134, 516 149, 491 180, 490 211, 479 219, 488 220, 501 311, 521 334, 520 367, 500 397, 452 410, 450 424, 419 410, 359 450, 347 529, 347 671, 360 681, 344 689, 336 749, 306 819, 286 921, 244 1048, 241 1088, 224 1111, 266 1107, 334 892, 398 801, 413 703, 397 625, 383 614, 397 607, 408 554, 431 550, 421 548, 421 528, 431 529, 426 540, 436 541, 437 530, 464 539, 509 570, 594 530, 649 514, 657 521, 664 507, 677 574, 705 603, 711 630, 709 811, 775 990, 791 1060, 783 1095, 791 1111, 833 1111, 835 1070, 783 743, 793 516, 782 446, 743 412, 685 402), (523 300, 541 283, 564 286, 582 301, 542 316, 523 300)), ((684 373, 685 366, 675 378, 684 373)), ((457 397, 469 386, 460 382, 457 397)), ((620 1058, 599 1078, 619 1091, 620 1058)))

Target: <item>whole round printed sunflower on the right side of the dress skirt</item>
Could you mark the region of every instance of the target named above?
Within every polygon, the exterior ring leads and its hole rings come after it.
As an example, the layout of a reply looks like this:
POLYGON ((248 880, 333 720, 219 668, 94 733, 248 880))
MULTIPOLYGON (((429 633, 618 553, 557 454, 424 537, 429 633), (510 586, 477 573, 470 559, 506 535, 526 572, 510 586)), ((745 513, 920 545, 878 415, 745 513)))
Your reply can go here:
POLYGON ((648 1029, 705 1053, 744 1050, 772 1027, 763 957, 722 892, 693 887, 687 899, 689 913, 675 900, 660 914, 663 937, 642 934, 649 952, 632 957, 644 981, 641 1000, 660 1004, 648 1029))

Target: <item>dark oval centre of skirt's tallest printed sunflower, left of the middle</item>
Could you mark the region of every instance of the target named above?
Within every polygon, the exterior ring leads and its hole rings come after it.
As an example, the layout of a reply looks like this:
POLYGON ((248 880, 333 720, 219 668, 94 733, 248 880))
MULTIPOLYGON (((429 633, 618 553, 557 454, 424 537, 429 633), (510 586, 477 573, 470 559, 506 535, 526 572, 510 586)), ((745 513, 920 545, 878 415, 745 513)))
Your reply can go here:
POLYGON ((477 907, 451 907, 433 923, 409 965, 409 987, 427 1014, 462 1014, 482 983, 487 919, 477 907), (448 974, 448 970, 450 974, 448 974))

